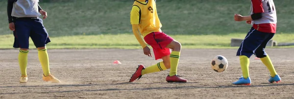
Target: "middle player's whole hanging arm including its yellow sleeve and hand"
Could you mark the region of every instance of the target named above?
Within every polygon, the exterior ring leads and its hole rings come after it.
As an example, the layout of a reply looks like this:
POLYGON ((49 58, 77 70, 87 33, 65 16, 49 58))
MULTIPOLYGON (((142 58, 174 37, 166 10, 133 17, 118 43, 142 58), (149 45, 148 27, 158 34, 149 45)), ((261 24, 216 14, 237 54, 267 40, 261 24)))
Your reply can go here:
POLYGON ((146 43, 144 42, 144 40, 142 39, 142 37, 138 31, 139 23, 140 23, 140 8, 137 6, 133 6, 133 8, 131 10, 130 17, 131 17, 132 30, 133 30, 135 37, 137 38, 137 40, 140 43, 140 45, 142 46, 142 48, 147 47, 146 43))

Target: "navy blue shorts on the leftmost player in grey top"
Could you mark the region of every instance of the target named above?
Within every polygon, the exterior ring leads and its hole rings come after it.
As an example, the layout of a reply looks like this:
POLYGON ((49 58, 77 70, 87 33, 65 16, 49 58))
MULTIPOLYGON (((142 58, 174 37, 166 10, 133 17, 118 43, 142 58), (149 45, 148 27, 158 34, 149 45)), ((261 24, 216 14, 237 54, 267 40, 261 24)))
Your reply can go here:
POLYGON ((13 48, 28 49, 29 37, 36 48, 45 47, 50 42, 41 18, 14 18, 13 20, 15 25, 13 48))

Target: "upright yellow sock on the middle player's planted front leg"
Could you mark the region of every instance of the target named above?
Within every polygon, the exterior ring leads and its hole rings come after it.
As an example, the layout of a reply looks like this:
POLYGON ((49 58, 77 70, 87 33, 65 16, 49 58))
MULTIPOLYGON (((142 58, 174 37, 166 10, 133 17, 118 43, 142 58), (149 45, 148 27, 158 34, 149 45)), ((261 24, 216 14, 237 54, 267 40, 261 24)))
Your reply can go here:
POLYGON ((180 51, 172 51, 170 55, 171 59, 171 71, 170 71, 170 76, 176 75, 176 69, 179 63, 180 59, 180 51))

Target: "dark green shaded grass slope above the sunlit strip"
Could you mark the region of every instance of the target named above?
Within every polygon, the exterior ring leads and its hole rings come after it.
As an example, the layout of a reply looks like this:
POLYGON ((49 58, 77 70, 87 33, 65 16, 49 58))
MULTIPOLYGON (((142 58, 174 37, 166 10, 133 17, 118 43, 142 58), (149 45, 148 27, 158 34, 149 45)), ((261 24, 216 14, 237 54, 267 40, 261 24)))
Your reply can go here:
MULTIPOLYGON (((133 0, 43 0, 40 6, 48 12, 44 20, 50 36, 131 33, 130 10, 133 0)), ((248 15, 250 0, 157 0, 157 12, 168 34, 247 33, 250 25, 235 22, 235 13, 248 15)), ((293 33, 294 2, 275 1, 277 33, 293 33)), ((0 34, 8 29, 6 0, 0 1, 0 34)))

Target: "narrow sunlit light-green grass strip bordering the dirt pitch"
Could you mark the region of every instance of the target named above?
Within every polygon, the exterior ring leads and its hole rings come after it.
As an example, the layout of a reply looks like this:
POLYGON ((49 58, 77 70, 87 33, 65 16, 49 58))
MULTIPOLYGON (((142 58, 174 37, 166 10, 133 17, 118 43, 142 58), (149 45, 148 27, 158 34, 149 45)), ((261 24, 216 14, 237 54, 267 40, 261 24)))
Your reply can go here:
MULTIPOLYGON (((228 35, 171 35, 181 42, 184 49, 236 49, 230 47, 231 38, 243 38, 245 33, 233 33, 228 35)), ((274 40, 280 42, 293 42, 294 34, 276 34, 274 40)), ((141 49, 140 44, 132 34, 100 34, 100 35, 73 35, 50 37, 49 49, 85 49, 85 48, 119 48, 141 49)), ((11 49, 14 37, 12 34, 0 35, 0 48, 11 49)), ((294 42, 293 42, 294 43, 294 42)), ((294 46, 290 46, 294 47, 294 46)), ((30 41, 30 48, 35 48, 30 41)), ((289 47, 274 47, 289 48, 289 47)))

